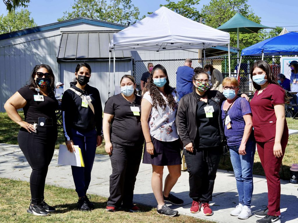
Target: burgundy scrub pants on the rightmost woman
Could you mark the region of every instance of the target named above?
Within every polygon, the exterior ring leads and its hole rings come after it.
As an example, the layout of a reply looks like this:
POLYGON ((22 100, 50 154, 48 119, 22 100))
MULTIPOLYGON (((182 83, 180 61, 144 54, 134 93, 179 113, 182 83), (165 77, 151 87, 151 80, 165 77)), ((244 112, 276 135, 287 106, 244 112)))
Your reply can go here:
MULTIPOLYGON (((283 156, 285 154, 285 147, 288 143, 288 129, 284 131, 281 139, 281 147, 283 156)), ((274 141, 271 142, 257 142, 257 150, 260 156, 261 164, 264 169, 267 187, 268 187, 268 215, 280 215, 280 165, 283 156, 277 158, 273 154, 274 141)))

